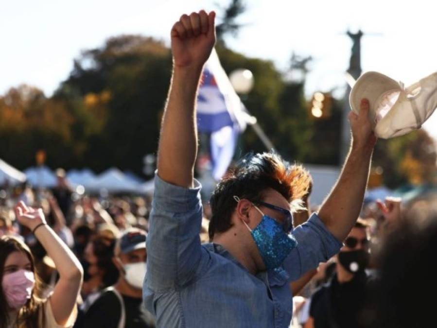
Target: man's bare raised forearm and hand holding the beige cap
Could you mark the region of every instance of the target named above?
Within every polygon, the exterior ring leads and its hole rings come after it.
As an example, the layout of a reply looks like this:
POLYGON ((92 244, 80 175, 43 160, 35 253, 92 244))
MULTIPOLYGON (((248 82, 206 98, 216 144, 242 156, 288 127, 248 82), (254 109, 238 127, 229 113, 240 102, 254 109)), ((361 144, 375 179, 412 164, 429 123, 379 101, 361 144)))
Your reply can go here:
POLYGON ((368 119, 369 103, 362 99, 359 115, 349 113, 352 146, 340 177, 320 207, 318 216, 328 230, 343 241, 352 229, 363 205, 364 192, 376 137, 368 119))

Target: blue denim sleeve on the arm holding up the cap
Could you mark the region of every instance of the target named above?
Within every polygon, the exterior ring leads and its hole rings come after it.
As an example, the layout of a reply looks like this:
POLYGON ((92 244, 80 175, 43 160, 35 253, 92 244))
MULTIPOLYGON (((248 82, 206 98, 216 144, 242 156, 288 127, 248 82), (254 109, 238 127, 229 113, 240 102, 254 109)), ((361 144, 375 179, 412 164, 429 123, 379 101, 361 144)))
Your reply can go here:
POLYGON ((291 280, 297 280, 304 273, 315 269, 320 262, 326 262, 343 246, 316 213, 307 222, 294 228, 292 235, 297 240, 297 247, 282 265, 291 280))

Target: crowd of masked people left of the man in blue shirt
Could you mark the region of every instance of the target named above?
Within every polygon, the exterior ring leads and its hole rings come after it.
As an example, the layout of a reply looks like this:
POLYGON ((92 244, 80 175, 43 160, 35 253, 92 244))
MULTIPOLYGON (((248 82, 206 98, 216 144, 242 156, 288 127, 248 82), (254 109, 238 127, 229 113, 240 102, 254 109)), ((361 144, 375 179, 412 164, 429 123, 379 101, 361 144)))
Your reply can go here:
POLYGON ((79 195, 57 173, 52 190, 0 188, 0 327, 155 327, 141 292, 150 199, 79 195))

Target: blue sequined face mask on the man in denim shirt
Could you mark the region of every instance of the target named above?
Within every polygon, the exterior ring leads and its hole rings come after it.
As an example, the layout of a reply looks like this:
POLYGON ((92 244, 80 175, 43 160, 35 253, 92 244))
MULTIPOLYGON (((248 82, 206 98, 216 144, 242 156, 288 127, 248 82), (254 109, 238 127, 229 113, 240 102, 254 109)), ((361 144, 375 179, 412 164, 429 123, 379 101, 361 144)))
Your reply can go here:
MULTIPOLYGON (((239 202, 240 198, 234 196, 239 202)), ((250 227, 243 221, 249 229, 258 251, 260 252, 265 269, 272 270, 279 267, 290 254, 291 250, 297 246, 296 239, 287 234, 282 225, 272 217, 262 213, 261 209, 253 205, 262 215, 261 222, 255 227, 250 227)))

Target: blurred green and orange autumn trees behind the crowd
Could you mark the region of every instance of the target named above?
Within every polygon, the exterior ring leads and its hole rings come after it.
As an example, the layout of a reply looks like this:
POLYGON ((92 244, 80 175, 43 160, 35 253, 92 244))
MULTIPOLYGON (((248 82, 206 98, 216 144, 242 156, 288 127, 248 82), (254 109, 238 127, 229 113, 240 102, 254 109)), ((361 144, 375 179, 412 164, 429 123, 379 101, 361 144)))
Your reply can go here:
MULTIPOLYGON (((315 119, 304 97, 304 81, 289 81, 273 62, 246 57, 223 43, 216 49, 227 73, 252 71, 255 84, 243 101, 281 155, 290 161, 339 164, 339 101, 333 100, 330 116, 315 119)), ((11 88, 0 97, 0 158, 24 169, 35 165, 35 153, 43 149, 52 168, 101 172, 117 166, 141 173, 143 156, 157 150, 171 69, 171 52, 162 42, 121 35, 83 52, 52 97, 32 86, 11 88)), ((380 140, 374 165, 395 168, 386 174, 389 186, 418 180, 419 173, 408 175, 413 172, 426 172, 419 174, 422 181, 435 167, 435 153, 423 158, 418 152, 423 147, 432 153, 423 132, 380 140)), ((248 127, 237 154, 265 150, 248 127)))

